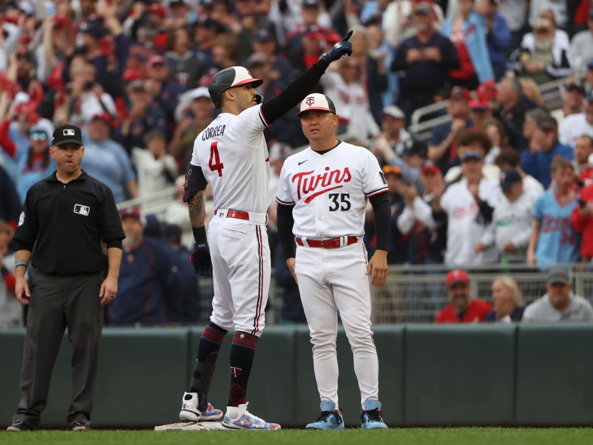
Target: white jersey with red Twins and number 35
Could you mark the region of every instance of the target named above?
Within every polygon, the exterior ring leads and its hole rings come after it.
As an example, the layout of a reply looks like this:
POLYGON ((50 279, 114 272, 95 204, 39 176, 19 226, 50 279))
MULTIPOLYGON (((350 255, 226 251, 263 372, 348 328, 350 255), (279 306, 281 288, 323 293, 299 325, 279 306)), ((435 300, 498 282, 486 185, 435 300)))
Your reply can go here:
POLYGON ((276 202, 293 205, 293 233, 298 237, 362 236, 366 198, 387 192, 377 158, 366 148, 340 142, 319 154, 308 147, 289 156, 276 202))

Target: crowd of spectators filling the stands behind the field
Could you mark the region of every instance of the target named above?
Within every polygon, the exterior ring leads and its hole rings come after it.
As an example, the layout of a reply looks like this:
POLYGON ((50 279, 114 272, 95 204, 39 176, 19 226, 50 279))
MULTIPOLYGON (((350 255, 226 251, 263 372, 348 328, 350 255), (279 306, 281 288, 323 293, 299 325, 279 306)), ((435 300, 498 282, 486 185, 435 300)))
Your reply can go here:
MULTIPOLYGON (((0 326, 22 323, 10 294, 9 239, 28 188, 54 170, 50 138, 66 122, 83 129, 82 168, 116 202, 168 186, 179 192, 162 217, 122 212, 120 296, 108 322, 199 319, 196 302, 209 295, 199 295, 187 259, 193 241, 181 196, 193 141, 217 112, 210 78, 243 65, 262 78, 258 92, 272 98, 349 29, 352 56, 331 65, 316 91, 333 99, 340 133, 383 167, 393 214, 389 263, 590 262, 592 3, 0 0, 0 326), (562 108, 548 110, 539 87, 559 79, 562 108), (443 100, 448 118, 425 142, 410 131, 412 114, 443 100)), ((277 252, 280 168, 307 139, 296 110, 265 135, 277 252)), ((367 220, 372 255, 371 211, 367 220)), ((281 319, 302 322, 285 269, 276 255, 286 295, 281 319)), ((461 320, 466 310, 451 313, 461 320)))

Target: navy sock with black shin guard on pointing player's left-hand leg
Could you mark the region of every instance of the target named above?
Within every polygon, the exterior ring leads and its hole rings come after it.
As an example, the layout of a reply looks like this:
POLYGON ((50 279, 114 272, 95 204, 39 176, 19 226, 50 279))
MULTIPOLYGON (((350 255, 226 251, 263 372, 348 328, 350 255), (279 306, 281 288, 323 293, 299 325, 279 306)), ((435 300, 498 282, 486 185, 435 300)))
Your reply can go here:
POLYGON ((204 328, 200 337, 192 383, 190 383, 188 391, 197 392, 197 403, 200 411, 205 411, 208 408, 208 391, 216 368, 216 358, 218 358, 218 351, 227 332, 227 330, 210 322, 204 328))

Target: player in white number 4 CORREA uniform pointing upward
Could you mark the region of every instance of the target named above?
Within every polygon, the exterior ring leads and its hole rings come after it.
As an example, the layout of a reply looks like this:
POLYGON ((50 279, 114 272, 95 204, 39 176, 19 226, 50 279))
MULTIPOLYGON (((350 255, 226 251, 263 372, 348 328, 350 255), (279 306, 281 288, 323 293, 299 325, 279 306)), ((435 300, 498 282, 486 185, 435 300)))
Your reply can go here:
POLYGON ((189 204, 195 238, 196 274, 214 282, 212 316, 203 330, 182 421, 218 420, 222 411, 208 403, 208 391, 222 341, 231 329, 231 384, 222 425, 237 430, 279 430, 247 410, 247 382, 257 341, 264 328, 270 285, 270 248, 266 211, 270 204, 270 164, 263 130, 297 106, 315 87, 329 63, 352 53, 347 36, 318 62, 265 104, 253 78, 242 66, 216 73, 208 87, 221 114, 196 138, 187 170, 184 201, 189 204), (203 190, 212 187, 214 215, 204 228, 203 190), (208 243, 209 241, 209 243, 208 243))

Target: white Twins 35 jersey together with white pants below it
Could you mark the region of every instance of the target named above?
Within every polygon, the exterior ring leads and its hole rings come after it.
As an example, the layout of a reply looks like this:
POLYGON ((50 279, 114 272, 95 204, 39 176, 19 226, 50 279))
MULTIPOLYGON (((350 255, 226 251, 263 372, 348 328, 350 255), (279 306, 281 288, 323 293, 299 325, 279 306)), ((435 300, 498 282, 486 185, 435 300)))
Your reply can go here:
MULTIPOLYGON (((324 154, 308 147, 284 162, 276 201, 294 205, 298 237, 362 236, 366 198, 387 192, 377 158, 366 148, 339 142, 324 154)), ((297 246, 295 275, 313 344, 321 400, 338 408, 338 312, 353 351, 361 406, 378 400, 379 362, 372 341, 371 288, 362 242, 336 249, 297 246)))

